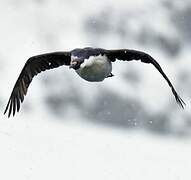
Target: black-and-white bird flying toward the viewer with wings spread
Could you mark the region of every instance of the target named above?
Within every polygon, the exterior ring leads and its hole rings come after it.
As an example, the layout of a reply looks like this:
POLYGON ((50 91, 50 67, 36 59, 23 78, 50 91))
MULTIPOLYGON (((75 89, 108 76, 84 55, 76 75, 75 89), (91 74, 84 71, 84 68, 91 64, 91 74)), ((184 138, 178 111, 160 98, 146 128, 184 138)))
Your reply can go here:
POLYGON ((66 65, 74 69, 86 81, 98 82, 113 76, 112 63, 116 60, 140 60, 143 63, 154 65, 170 86, 176 102, 184 108, 184 101, 177 94, 158 62, 149 54, 130 49, 106 50, 86 47, 72 51, 52 52, 30 57, 15 83, 4 114, 8 112, 8 117, 10 117, 11 114, 14 116, 15 112, 19 111, 33 77, 42 71, 66 65))

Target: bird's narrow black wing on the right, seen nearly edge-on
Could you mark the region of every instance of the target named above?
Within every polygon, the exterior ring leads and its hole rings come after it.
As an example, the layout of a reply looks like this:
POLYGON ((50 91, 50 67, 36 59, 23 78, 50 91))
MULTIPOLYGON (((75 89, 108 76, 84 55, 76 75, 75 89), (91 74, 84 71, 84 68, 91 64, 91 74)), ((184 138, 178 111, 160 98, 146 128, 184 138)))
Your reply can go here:
POLYGON ((109 59, 111 59, 111 61, 115 61, 116 59, 124 61, 141 60, 141 62, 153 64, 155 68, 162 74, 162 76, 167 81, 168 85, 172 90, 172 93, 175 96, 176 102, 182 108, 184 108, 185 102, 178 95, 172 83, 170 82, 170 80, 160 67, 159 63, 156 60, 154 60, 149 54, 136 50, 121 49, 121 50, 107 50, 107 56, 109 57, 109 59))

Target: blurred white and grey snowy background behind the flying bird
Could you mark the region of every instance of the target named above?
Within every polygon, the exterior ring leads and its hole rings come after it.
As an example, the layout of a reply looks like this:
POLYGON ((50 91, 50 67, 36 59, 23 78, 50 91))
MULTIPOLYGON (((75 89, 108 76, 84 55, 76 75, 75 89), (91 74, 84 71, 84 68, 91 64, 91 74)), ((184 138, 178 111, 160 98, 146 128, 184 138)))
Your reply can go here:
POLYGON ((0 1, 0 179, 190 179, 189 0, 0 1), (68 67, 35 77, 21 111, 3 111, 28 57, 76 47, 142 50, 88 83, 68 67))

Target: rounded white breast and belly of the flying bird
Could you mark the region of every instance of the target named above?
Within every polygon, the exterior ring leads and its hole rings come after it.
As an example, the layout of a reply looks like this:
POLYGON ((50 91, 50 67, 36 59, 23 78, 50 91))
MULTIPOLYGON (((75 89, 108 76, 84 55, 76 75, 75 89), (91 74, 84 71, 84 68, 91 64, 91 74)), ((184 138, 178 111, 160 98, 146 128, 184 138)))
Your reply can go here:
POLYGON ((112 65, 107 56, 90 56, 85 59, 76 70, 80 77, 87 81, 103 81, 112 70, 112 65))

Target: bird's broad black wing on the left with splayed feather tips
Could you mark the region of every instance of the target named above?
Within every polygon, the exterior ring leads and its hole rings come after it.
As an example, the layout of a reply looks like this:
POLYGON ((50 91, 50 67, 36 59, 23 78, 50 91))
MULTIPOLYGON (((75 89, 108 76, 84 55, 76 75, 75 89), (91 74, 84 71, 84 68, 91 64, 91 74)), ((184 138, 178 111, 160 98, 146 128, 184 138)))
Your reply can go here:
POLYGON ((4 114, 8 111, 8 117, 10 117, 11 113, 14 116, 16 110, 19 111, 34 76, 48 69, 70 65, 70 59, 69 52, 53 52, 29 58, 15 83, 4 114))

